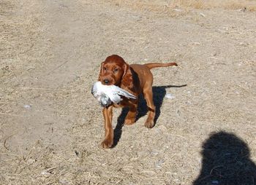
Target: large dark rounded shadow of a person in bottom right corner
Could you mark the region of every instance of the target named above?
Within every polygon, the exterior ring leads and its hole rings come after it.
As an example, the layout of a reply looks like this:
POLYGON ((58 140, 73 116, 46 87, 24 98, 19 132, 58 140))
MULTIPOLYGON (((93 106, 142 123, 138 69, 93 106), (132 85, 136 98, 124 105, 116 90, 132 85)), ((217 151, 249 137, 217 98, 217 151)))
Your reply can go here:
POLYGON ((225 131, 211 133, 202 148, 202 168, 193 185, 256 184, 256 165, 241 138, 225 131))

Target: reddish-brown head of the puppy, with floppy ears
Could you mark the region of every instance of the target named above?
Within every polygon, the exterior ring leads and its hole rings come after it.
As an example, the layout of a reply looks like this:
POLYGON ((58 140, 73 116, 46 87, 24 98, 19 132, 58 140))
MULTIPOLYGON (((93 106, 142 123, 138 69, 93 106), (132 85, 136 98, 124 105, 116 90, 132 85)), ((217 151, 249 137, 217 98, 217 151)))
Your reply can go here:
POLYGON ((118 55, 111 55, 102 62, 99 72, 99 81, 106 85, 120 86, 131 74, 129 65, 118 55))

